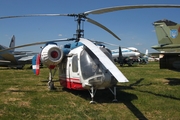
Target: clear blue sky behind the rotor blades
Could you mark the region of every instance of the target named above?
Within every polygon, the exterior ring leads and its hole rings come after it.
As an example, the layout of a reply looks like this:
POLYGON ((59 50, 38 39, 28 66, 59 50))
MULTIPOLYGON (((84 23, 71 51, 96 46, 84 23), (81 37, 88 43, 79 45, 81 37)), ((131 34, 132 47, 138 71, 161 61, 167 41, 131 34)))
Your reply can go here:
MULTIPOLYGON (((89 10, 127 5, 179 4, 178 0, 0 0, 0 17, 25 14, 70 14, 89 10)), ((157 45, 153 22, 168 19, 180 23, 178 8, 132 9, 88 17, 103 24, 121 40, 117 40, 105 30, 84 22, 84 38, 108 42, 121 47, 136 47, 141 52, 157 52, 151 48, 157 45)), ((26 17, 0 20, 0 41, 9 46, 15 35, 16 46, 62 38, 72 38, 77 28, 73 17, 26 17)), ((67 42, 66 42, 67 43, 67 42)), ((69 42, 68 42, 69 43, 69 42)), ((58 43, 59 46, 65 44, 58 43)), ((43 45, 40 45, 43 46, 43 45)), ((40 46, 20 48, 39 52, 40 46)), ((117 46, 107 46, 116 49, 117 46)))

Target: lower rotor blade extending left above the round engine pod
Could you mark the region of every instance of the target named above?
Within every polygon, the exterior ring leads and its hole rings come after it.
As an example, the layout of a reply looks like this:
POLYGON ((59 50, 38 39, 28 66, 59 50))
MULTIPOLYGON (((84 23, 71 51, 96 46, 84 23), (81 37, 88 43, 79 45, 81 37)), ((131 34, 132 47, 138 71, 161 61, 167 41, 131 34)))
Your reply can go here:
POLYGON ((16 46, 16 47, 7 48, 7 49, 2 49, 2 50, 0 50, 0 52, 11 50, 11 49, 15 49, 15 48, 35 46, 35 45, 46 44, 46 43, 51 43, 51 42, 63 42, 63 41, 73 41, 73 40, 75 40, 75 38, 70 38, 70 39, 55 39, 55 40, 44 41, 44 42, 35 42, 35 43, 20 45, 20 46, 16 46))

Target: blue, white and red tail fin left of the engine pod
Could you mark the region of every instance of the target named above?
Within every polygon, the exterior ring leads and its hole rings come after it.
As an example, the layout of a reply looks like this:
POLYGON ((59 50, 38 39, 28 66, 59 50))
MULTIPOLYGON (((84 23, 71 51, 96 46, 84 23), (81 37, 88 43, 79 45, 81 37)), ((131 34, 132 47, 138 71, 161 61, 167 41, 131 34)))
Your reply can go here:
POLYGON ((32 59, 32 69, 34 74, 39 75, 40 73, 40 54, 37 54, 32 59))

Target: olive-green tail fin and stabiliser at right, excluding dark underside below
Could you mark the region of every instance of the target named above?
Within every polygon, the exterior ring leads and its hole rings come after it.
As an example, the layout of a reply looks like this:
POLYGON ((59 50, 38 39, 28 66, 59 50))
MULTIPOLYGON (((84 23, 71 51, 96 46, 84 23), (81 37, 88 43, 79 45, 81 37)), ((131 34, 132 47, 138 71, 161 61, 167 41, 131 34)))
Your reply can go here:
POLYGON ((180 52, 180 24, 164 19, 153 23, 159 45, 153 49, 164 52, 180 52))

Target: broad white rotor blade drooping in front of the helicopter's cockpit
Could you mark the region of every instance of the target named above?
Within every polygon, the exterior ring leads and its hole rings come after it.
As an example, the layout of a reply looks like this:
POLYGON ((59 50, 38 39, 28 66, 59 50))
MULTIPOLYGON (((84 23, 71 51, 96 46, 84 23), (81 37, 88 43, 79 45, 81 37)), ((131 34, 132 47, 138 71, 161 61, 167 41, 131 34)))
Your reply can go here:
POLYGON ((82 42, 89 50, 91 50, 96 55, 99 61, 116 78, 118 82, 128 82, 128 79, 96 45, 84 38, 80 38, 80 42, 82 42))

